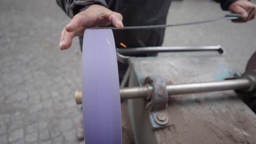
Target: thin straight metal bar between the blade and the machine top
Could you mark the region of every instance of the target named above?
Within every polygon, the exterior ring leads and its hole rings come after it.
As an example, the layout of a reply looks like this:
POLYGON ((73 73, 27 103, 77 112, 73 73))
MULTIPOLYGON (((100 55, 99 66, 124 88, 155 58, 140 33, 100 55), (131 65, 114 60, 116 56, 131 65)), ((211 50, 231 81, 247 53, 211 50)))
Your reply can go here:
POLYGON ((117 49, 117 52, 122 55, 132 55, 138 53, 150 52, 178 52, 178 51, 218 51, 220 54, 224 53, 223 47, 216 46, 159 46, 159 47, 138 47, 131 49, 117 49))

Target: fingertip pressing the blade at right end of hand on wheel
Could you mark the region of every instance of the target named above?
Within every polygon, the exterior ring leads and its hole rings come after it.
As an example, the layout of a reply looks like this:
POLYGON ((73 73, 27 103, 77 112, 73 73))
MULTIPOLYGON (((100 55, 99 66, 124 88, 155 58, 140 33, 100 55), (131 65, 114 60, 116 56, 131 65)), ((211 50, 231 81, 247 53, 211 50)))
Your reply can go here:
POLYGON ((108 20, 115 26, 118 28, 123 28, 123 16, 120 13, 108 13, 107 14, 108 20))

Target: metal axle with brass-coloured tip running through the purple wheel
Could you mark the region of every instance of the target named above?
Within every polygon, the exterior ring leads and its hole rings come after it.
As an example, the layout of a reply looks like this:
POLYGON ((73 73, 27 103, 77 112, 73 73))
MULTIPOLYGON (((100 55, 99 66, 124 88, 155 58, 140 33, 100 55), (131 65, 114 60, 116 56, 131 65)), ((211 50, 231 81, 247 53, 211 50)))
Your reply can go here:
MULTIPOLYGON (((168 95, 177 94, 191 94, 213 91, 226 91, 226 90, 247 90, 251 83, 247 79, 234 79, 216 82, 201 82, 201 83, 185 83, 178 85, 166 86, 168 95)), ((136 99, 148 97, 153 92, 153 87, 150 85, 142 87, 128 87, 120 88, 121 99, 136 99)), ((75 101, 77 104, 82 104, 82 92, 75 92, 75 101)))

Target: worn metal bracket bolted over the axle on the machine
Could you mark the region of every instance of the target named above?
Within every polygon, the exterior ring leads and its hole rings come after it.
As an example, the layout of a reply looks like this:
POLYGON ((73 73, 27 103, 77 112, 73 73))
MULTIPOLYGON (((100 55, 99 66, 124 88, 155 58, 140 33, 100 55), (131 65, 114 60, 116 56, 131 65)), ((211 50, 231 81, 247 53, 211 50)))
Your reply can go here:
POLYGON ((153 130, 170 127, 170 119, 166 111, 168 93, 166 83, 161 76, 148 76, 143 81, 144 85, 152 85, 153 92, 146 98, 149 110, 149 121, 153 130))

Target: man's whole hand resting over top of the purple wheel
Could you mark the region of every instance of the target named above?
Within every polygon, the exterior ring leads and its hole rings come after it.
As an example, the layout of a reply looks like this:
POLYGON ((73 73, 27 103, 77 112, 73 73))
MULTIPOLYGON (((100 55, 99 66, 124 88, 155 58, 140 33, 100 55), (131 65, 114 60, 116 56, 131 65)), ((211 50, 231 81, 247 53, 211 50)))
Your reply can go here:
POLYGON ((91 5, 88 9, 75 15, 73 19, 63 28, 60 37, 59 48, 66 50, 71 47, 72 39, 75 36, 83 35, 84 30, 90 27, 107 26, 111 23, 115 27, 122 28, 123 16, 115 13, 101 5, 91 5))

